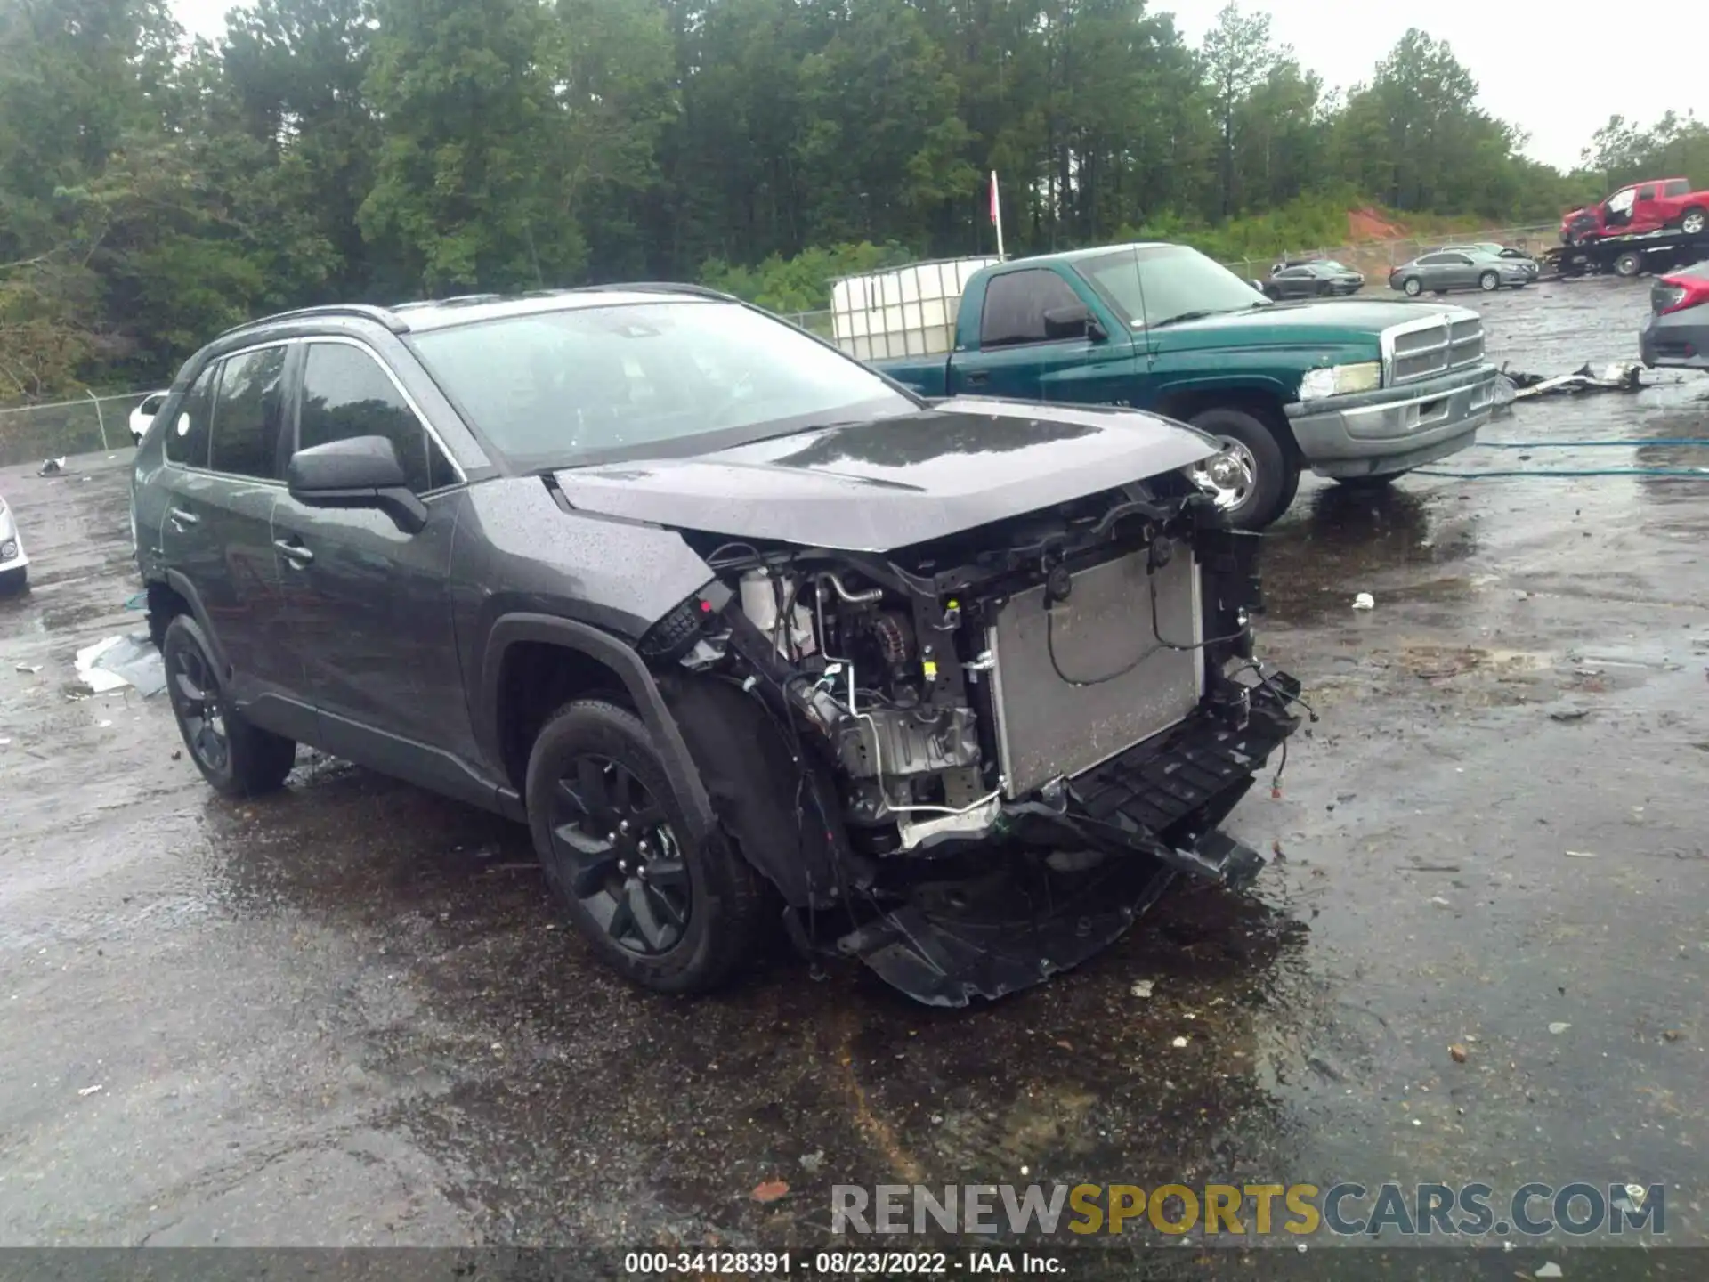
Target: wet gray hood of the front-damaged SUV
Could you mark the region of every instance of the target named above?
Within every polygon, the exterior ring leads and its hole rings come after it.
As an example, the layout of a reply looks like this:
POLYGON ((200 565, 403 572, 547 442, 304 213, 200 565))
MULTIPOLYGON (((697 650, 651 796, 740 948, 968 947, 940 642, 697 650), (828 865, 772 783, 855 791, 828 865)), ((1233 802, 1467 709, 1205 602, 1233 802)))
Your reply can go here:
POLYGON ((964 397, 877 422, 554 473, 576 511, 884 552, 1145 480, 1215 453, 1152 414, 964 397))

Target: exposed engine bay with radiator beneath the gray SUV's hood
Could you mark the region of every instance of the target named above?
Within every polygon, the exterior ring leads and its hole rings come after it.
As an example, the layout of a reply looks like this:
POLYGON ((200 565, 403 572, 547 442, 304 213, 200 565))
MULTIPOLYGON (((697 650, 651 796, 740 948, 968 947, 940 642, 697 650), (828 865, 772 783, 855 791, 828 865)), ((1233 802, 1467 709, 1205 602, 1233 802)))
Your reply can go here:
POLYGON ((718 578, 643 653, 762 697, 829 766, 853 851, 937 853, 1241 704, 1254 542, 1179 477, 887 554, 708 538, 718 578))

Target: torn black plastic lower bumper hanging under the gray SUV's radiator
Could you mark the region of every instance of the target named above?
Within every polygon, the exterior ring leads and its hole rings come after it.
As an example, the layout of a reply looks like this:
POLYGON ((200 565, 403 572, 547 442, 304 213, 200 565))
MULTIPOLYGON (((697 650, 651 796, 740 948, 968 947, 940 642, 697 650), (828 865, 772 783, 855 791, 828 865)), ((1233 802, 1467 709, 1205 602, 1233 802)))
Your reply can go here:
POLYGON ((1263 868, 1219 832, 1299 728, 1292 677, 1224 682, 1198 711, 1054 795, 1005 807, 1001 858, 948 862, 837 940, 926 1005, 962 1007, 1042 983, 1118 940, 1181 873, 1241 889, 1263 868))

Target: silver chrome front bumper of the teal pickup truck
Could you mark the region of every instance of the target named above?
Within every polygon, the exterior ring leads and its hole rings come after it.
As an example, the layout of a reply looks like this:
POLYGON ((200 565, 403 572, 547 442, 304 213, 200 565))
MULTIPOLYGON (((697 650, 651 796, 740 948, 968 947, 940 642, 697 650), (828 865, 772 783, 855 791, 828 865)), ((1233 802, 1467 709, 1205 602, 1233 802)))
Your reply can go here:
POLYGON ((1465 450, 1495 407, 1495 366, 1355 397, 1287 407, 1301 455, 1319 477, 1369 477, 1465 450))

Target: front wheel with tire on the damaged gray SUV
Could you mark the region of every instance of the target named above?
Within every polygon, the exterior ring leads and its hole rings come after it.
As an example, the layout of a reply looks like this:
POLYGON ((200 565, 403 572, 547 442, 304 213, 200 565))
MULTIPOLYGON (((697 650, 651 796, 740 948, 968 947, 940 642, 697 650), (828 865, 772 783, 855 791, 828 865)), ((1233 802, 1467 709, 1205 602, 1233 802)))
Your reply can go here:
POLYGON ((762 896, 719 832, 689 839, 634 713, 578 699, 528 756, 528 827, 547 882, 602 961, 661 993, 701 993, 745 961, 762 896))

